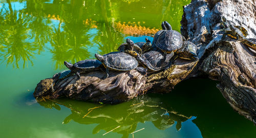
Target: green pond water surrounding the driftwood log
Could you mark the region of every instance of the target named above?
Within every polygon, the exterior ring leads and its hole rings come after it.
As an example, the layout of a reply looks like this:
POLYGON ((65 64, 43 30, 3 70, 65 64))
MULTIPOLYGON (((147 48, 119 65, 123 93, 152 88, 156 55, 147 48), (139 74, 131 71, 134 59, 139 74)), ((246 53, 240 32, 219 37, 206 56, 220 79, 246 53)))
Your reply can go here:
POLYGON ((103 105, 86 117, 89 108, 102 105, 33 98, 40 80, 66 70, 63 61, 115 51, 126 38, 153 40, 163 20, 179 31, 189 2, 0 0, 0 137, 133 137, 142 128, 134 137, 255 137, 253 123, 233 111, 218 82, 208 79, 183 81, 170 94, 103 105))

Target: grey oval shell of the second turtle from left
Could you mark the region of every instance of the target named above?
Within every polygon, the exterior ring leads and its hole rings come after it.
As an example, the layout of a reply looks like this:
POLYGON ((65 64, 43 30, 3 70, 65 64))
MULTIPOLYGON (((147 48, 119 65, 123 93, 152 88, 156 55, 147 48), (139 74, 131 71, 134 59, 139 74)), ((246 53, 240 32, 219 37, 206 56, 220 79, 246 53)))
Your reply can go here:
POLYGON ((112 52, 103 55, 103 64, 116 71, 130 71, 138 66, 138 61, 129 54, 112 52))

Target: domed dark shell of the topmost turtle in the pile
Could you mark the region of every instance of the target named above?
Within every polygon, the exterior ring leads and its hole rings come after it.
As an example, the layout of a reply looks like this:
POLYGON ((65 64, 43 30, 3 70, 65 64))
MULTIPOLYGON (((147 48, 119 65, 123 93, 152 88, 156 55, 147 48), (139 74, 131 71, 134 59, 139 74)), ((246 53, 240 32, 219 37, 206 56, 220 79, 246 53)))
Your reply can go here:
POLYGON ((156 42, 156 47, 166 53, 171 53, 182 47, 182 35, 175 30, 163 31, 156 42))

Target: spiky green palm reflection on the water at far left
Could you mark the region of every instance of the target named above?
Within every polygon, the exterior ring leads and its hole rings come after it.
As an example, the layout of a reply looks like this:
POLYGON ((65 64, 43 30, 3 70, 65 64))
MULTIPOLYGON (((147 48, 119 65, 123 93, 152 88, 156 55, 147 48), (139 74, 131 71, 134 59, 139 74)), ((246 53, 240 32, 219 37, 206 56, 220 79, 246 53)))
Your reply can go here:
MULTIPOLYGON (((9 2, 9 1, 8 1, 9 2)), ((19 68, 19 60, 23 60, 23 67, 26 62, 33 58, 34 52, 37 50, 35 43, 29 42, 31 34, 29 32, 29 20, 31 16, 23 12, 12 10, 10 2, 2 5, 0 11, 0 56, 3 56, 7 64, 19 68)))

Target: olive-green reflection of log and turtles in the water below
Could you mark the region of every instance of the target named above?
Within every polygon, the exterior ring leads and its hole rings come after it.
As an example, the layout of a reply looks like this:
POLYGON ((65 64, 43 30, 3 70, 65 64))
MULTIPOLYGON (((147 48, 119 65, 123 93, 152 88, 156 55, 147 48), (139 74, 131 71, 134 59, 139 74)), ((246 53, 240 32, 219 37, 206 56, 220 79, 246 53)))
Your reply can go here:
POLYGON ((113 111, 115 107, 111 105, 99 105, 98 108, 90 109, 95 105, 90 107, 87 103, 68 100, 42 100, 38 103, 46 108, 57 110, 60 110, 58 104, 70 108, 72 113, 63 120, 63 124, 68 124, 72 120, 80 124, 98 124, 93 129, 93 134, 100 130, 108 132, 120 126, 113 132, 120 133, 123 137, 128 137, 130 133, 136 131, 138 123, 152 122, 160 130, 172 127, 176 123, 176 129, 180 130, 181 123, 191 118, 191 116, 186 117, 175 110, 168 110, 146 96, 136 98, 122 108, 119 107, 118 111, 113 111))

